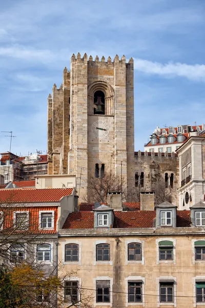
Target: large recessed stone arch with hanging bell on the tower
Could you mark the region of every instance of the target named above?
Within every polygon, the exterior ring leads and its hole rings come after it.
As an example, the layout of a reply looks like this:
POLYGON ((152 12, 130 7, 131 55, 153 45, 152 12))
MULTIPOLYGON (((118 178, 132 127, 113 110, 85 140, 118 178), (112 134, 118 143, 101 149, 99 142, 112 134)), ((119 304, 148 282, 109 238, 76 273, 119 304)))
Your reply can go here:
POLYGON ((114 89, 106 82, 95 81, 88 87, 88 114, 114 115, 114 89), (96 113, 97 97, 101 97, 98 105, 104 113, 96 113))

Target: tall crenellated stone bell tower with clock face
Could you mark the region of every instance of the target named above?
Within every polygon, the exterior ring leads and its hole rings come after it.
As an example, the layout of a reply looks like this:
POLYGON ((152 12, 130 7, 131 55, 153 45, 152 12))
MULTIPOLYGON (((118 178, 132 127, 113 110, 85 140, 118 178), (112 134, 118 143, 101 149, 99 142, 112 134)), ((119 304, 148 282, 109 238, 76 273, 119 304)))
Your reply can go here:
POLYGON ((121 175, 128 187, 134 164, 133 59, 71 57, 63 84, 48 97, 48 174, 76 175, 80 198, 88 179, 121 175))

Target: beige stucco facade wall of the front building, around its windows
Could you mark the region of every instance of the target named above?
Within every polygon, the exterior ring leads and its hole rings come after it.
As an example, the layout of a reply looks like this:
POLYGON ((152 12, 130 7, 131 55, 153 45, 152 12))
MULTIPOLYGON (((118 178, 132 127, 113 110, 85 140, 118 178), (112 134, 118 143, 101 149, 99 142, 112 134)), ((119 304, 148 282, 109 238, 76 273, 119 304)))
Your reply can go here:
MULTIPOLYGON (((181 228, 179 228, 181 229, 181 228)), ((132 229, 134 230, 134 229, 132 229)), ((136 229, 135 229, 136 230, 136 229)), ((75 232, 75 230, 73 230, 75 232)), ((83 230, 82 230, 83 232, 83 230)), ((87 233, 86 230, 85 233, 87 233)), ((120 236, 119 243, 116 243, 116 236, 89 236, 89 237, 60 237, 58 245, 59 261, 62 260, 59 275, 67 271, 77 271, 76 276, 80 278, 82 287, 95 289, 94 279, 97 277, 109 277, 113 279, 113 290, 121 293, 113 293, 113 307, 126 307, 126 278, 130 276, 139 276, 145 280, 145 307, 173 307, 174 305, 159 304, 158 286, 159 279, 176 280, 176 304, 178 308, 194 307, 195 287, 193 285, 196 276, 205 276, 205 261, 200 261, 194 264, 193 240, 203 239, 200 235, 166 235, 161 234, 157 236, 120 236), (157 261, 158 241, 172 240, 175 243, 175 261, 169 263, 157 261), (142 262, 132 262, 126 264, 127 259, 127 243, 128 241, 139 240, 142 243, 142 262), (94 265, 95 258, 95 244, 110 243, 111 262, 105 264, 94 265), (63 261, 64 245, 66 243, 78 243, 80 245, 81 256, 79 256, 79 264, 72 264, 63 261), (157 264, 159 263, 159 264, 157 264), (175 263, 175 264, 174 264, 175 263), (181 296, 181 297, 180 297, 181 296), (187 296, 187 297, 186 297, 187 296)), ((93 291, 94 292, 94 291, 93 291)), ((95 293, 95 292, 94 292, 95 293)), ((99 304, 99 306, 102 306, 99 304)), ((105 305, 103 305, 105 307, 105 305)), ((107 305, 108 307, 110 305, 107 305)), ((129 304, 129 307, 136 305, 129 304)), ((142 307, 142 304, 137 305, 142 307)), ((197 304, 197 307, 202 307, 197 304)))

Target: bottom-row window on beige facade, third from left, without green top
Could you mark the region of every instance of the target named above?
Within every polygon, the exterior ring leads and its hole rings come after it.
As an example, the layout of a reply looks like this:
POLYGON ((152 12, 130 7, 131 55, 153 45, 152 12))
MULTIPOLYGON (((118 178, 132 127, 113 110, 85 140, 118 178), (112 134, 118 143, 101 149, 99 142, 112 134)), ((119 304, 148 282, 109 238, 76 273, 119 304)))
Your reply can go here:
POLYGON ((129 276, 125 279, 126 307, 145 307, 145 277, 129 276))

